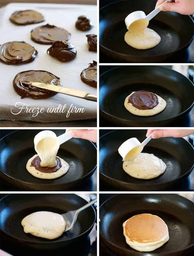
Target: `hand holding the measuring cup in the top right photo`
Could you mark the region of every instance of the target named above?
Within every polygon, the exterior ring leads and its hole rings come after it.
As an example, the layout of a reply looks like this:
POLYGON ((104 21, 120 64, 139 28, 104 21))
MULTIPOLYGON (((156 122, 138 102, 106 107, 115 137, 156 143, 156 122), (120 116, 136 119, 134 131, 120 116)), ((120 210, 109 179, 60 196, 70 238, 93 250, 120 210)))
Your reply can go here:
MULTIPOLYGON (((165 0, 158 0, 155 7, 161 5, 165 0)), ((174 0, 173 2, 161 5, 162 11, 174 11, 176 13, 191 15, 194 14, 194 0, 174 0)))

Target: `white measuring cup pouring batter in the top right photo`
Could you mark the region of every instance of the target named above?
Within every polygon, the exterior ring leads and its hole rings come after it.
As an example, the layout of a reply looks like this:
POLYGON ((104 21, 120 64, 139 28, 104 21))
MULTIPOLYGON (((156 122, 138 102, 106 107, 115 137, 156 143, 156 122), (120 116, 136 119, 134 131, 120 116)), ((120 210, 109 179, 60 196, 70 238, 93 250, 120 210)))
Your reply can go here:
MULTIPOLYGON (((161 5, 163 5, 167 2, 172 2, 172 0, 167 0, 167 1, 163 2, 161 5)), ((161 5, 159 5, 156 9, 154 9, 147 16, 143 11, 134 11, 134 12, 130 13, 125 18, 125 24, 126 24, 127 29, 130 32, 137 31, 137 27, 139 28, 138 30, 145 29, 148 26, 149 21, 161 11, 161 8, 160 8, 161 5)))

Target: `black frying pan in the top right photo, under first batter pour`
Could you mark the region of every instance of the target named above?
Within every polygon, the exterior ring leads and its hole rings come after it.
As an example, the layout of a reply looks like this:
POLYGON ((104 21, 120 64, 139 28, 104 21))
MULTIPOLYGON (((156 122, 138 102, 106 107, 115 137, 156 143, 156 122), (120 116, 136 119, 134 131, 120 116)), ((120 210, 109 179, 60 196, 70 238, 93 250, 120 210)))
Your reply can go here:
POLYGON ((100 50, 118 61, 161 63, 178 51, 187 49, 194 37, 194 22, 190 16, 174 12, 161 11, 150 21, 148 27, 161 36, 161 42, 156 47, 138 50, 124 41, 127 15, 138 10, 147 15, 155 9, 155 4, 153 0, 125 0, 100 9, 100 50))

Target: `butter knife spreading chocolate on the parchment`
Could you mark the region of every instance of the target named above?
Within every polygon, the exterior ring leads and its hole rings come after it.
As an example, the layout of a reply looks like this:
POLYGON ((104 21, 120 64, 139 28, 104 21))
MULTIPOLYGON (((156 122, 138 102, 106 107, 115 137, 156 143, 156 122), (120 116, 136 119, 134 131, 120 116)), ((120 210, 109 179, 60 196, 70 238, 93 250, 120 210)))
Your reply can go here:
POLYGON ((97 101, 97 97, 94 94, 88 93, 88 92, 82 92, 80 90, 68 88, 68 87, 62 87, 62 86, 56 86, 53 84, 44 84, 39 82, 30 82, 30 81, 22 81, 22 84, 31 85, 37 88, 41 88, 44 90, 52 91, 52 92, 59 92, 67 95, 71 95, 74 97, 83 98, 86 100, 92 100, 97 101))

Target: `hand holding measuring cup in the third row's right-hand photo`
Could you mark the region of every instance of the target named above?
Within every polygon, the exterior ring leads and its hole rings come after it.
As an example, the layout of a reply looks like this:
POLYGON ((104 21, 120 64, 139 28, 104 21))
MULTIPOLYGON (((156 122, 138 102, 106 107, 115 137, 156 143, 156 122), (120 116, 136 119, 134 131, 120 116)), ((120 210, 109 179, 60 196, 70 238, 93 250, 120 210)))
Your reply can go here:
MULTIPOLYGON (((146 136, 148 137, 154 130, 147 130, 146 136)), ((163 138, 163 137, 175 137, 175 138, 180 138, 180 137, 185 137, 190 134, 194 133, 194 130, 186 129, 186 130, 156 130, 151 137, 153 139, 157 138, 163 138)))

